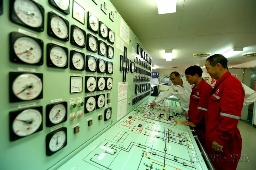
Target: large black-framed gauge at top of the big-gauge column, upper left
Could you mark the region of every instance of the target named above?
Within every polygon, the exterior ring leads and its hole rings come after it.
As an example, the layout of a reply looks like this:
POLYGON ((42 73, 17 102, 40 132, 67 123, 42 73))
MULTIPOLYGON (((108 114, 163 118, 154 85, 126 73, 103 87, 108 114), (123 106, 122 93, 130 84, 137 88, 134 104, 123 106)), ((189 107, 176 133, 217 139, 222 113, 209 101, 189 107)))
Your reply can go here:
POLYGON ((13 22, 37 32, 44 31, 44 7, 32 0, 14 0, 10 2, 13 22))

